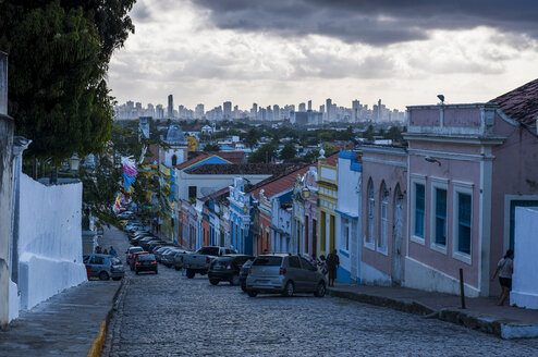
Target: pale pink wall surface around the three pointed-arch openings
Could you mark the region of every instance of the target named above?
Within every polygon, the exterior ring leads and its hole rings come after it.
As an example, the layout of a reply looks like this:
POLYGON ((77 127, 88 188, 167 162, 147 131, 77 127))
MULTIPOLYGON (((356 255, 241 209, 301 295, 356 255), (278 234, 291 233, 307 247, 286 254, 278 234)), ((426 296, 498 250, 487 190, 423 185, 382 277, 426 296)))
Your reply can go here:
POLYGON ((402 244, 400 257, 394 253, 394 209, 399 193, 403 195, 402 207, 402 242, 405 243, 406 210, 405 199, 407 192, 406 167, 407 156, 404 149, 390 147, 368 147, 363 149, 363 174, 362 174, 362 263, 360 282, 364 284, 391 285, 393 283, 393 259, 401 259, 400 280, 405 279, 404 257, 406 256, 405 244, 402 244), (374 239, 369 241, 368 224, 368 187, 374 187, 374 239), (388 190, 387 198, 387 237, 381 244, 381 187, 388 190))

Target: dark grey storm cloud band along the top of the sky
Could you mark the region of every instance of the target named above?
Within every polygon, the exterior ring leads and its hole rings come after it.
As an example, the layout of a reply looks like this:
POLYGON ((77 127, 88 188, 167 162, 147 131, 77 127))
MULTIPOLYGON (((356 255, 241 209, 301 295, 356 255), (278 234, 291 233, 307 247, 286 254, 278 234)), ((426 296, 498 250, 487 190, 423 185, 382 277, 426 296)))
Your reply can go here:
MULTIPOLYGON (((537 0, 192 0, 227 29, 383 46, 490 26, 538 39, 537 0)), ((448 39, 449 40, 449 39, 448 39)))

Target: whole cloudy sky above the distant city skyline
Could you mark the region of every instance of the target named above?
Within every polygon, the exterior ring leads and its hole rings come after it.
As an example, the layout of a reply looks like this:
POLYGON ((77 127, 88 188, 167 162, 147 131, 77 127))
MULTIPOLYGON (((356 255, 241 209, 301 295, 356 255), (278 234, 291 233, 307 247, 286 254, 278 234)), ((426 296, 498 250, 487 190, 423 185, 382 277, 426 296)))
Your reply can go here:
POLYGON ((538 77, 536 0, 137 0, 119 102, 490 100, 538 77))

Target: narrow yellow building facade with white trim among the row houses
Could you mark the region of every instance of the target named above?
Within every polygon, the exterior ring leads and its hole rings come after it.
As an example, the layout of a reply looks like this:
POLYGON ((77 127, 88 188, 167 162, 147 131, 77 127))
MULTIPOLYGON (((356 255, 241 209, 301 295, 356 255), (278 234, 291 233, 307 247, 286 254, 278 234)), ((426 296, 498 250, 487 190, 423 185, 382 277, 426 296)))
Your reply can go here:
POLYGON ((318 160, 318 251, 327 257, 337 246, 338 153, 318 160))

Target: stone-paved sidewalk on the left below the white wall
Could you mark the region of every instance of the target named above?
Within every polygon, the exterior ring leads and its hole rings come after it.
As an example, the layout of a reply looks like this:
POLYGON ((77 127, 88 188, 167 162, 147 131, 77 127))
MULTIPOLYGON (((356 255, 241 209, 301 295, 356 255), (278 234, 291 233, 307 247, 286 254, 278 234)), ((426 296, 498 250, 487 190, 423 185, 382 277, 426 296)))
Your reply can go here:
MULTIPOLYGON (((125 235, 106 230, 102 243, 125 249, 125 235)), ((91 280, 22 311, 0 331, 0 356, 86 356, 120 286, 112 280, 91 280)))

